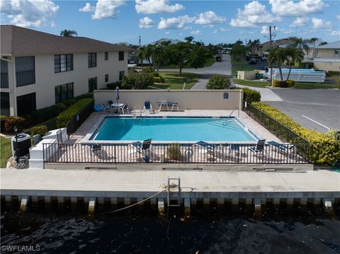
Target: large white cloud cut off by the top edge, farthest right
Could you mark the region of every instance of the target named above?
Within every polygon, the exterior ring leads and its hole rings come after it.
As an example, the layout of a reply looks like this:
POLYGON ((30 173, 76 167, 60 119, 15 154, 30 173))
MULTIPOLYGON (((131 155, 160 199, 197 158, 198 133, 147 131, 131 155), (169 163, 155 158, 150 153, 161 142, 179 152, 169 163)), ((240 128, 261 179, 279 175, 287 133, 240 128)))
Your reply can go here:
POLYGON ((322 0, 269 0, 269 4, 274 14, 283 17, 302 17, 311 13, 322 13, 323 8, 328 6, 322 0))

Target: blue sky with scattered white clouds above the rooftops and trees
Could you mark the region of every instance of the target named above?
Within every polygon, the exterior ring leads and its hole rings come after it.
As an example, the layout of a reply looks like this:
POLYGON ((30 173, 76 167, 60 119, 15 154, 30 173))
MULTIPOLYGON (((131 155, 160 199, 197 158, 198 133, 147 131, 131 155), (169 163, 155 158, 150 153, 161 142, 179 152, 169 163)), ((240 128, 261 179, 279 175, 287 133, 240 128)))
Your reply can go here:
POLYGON ((1 0, 1 25, 145 45, 193 36, 205 44, 297 36, 340 40, 340 1, 1 0))

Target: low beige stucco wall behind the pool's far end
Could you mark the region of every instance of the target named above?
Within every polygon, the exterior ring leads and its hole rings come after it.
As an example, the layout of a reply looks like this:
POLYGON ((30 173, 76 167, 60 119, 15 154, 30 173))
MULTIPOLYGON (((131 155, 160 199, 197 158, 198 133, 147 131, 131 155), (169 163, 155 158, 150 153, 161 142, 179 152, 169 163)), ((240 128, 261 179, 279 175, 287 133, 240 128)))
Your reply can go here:
MULTIPOLYGON (((168 102, 179 103, 180 109, 186 110, 232 110, 242 109, 242 90, 120 90, 120 102, 129 105, 129 108, 142 109, 145 101, 152 105, 166 99, 168 102), (229 98, 224 99, 223 93, 228 93, 229 98)), ((115 90, 94 91, 96 104, 115 101, 115 90)))

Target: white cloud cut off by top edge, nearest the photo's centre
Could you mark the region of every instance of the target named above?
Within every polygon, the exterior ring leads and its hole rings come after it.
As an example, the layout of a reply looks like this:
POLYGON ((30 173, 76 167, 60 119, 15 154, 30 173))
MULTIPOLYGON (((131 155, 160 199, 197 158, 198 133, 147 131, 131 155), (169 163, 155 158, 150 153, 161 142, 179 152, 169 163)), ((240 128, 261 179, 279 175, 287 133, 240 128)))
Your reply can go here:
POLYGON ((170 5, 167 0, 136 0, 135 5, 137 13, 174 13, 181 11, 184 6, 181 4, 170 5))

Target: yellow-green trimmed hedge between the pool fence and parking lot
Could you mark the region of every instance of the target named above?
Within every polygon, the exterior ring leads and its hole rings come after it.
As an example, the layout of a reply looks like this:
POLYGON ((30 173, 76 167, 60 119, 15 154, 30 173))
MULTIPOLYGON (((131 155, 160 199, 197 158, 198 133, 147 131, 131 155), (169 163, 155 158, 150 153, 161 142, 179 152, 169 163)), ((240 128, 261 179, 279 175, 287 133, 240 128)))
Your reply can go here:
POLYGON ((334 139, 331 134, 306 129, 268 103, 252 103, 252 105, 310 142, 312 144, 312 163, 331 166, 339 161, 340 140, 334 139))

